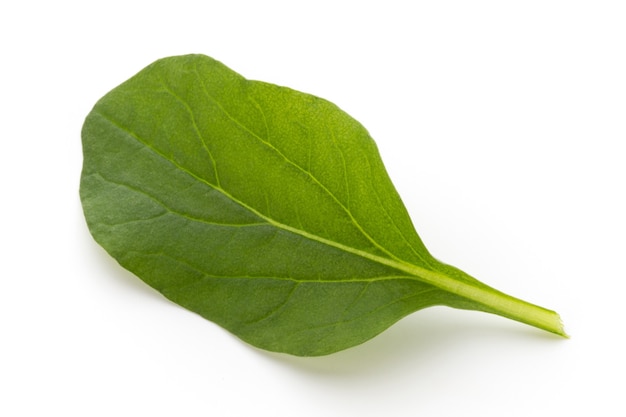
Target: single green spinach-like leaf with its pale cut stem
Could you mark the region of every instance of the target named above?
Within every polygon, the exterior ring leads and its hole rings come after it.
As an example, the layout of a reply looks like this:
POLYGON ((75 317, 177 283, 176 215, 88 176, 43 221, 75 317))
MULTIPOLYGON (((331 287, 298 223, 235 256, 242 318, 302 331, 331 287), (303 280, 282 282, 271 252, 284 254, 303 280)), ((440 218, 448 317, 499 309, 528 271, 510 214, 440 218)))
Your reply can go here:
POLYGON ((326 100, 170 57, 98 101, 82 138, 96 241, 259 348, 325 355, 433 305, 565 336, 555 312, 433 258, 374 141, 326 100))

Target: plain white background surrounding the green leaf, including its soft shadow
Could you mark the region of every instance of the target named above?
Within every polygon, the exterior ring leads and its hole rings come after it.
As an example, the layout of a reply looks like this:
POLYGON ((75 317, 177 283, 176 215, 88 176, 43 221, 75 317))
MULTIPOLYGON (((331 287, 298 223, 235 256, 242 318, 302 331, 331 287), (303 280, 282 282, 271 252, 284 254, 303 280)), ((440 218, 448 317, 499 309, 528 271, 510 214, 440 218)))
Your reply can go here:
POLYGON ((0 6, 0 415, 626 415, 623 1, 15 4, 0 6), (121 269, 82 216, 81 125, 186 53, 361 121, 431 251, 557 310, 571 339, 431 308, 295 358, 121 269))

